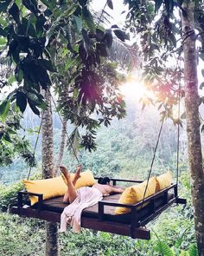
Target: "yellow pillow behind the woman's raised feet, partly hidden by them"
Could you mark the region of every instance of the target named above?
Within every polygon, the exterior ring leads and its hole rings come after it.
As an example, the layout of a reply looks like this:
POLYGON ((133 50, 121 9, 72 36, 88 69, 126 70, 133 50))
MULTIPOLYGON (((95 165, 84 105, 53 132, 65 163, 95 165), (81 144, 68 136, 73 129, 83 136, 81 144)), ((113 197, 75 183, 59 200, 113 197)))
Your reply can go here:
MULTIPOLYGON (((61 177, 65 181, 67 185, 67 180, 64 176, 64 174, 61 174, 61 177)), ((71 179, 73 181, 74 174, 71 174, 71 179)), ((93 174, 90 170, 86 170, 85 172, 80 173, 80 179, 76 182, 75 188, 80 188, 80 187, 91 187, 94 185, 96 181, 94 180, 93 174)))

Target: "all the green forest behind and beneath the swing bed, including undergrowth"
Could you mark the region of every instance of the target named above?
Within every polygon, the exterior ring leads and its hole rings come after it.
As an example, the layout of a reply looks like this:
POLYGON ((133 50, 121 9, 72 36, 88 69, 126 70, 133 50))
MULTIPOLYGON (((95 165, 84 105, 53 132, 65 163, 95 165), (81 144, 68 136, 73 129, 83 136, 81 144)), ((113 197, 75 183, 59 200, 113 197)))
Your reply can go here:
MULTIPOLYGON (((127 115, 122 121, 113 121, 110 128, 99 128, 97 135, 98 148, 92 153, 80 151, 80 162, 83 167, 92 169, 95 176, 108 175, 114 178, 130 178, 145 180, 150 170, 153 149, 156 146, 157 133, 160 128, 160 116, 156 108, 144 108, 137 100, 126 98, 127 115)), ((31 133, 39 125, 39 118, 30 110, 24 114, 23 133, 35 144, 36 134, 31 133)), ((69 134, 72 126, 68 128, 69 134)), ((54 153, 59 150, 61 136, 61 121, 54 113, 54 153)), ((176 175, 177 128, 172 121, 165 121, 163 134, 156 154, 153 174, 163 174, 167 170, 176 175)), ((190 183, 187 165, 187 141, 185 137, 185 121, 180 136, 179 159, 179 194, 188 198, 187 207, 173 207, 151 223, 150 241, 131 240, 109 233, 92 233, 83 230, 79 234, 70 232, 61 235, 61 255, 160 255, 170 251, 183 255, 184 251, 196 255, 193 208, 190 200, 190 183), (185 216, 185 218, 183 218, 185 216), (76 242, 77 240, 77 242, 76 242), (168 247, 169 246, 169 247, 168 247), (72 253, 70 253, 72 252, 72 253)), ((38 145, 35 158, 36 167, 31 170, 31 179, 41 176, 41 143, 38 145)), ((63 163, 74 170, 77 162, 73 154, 64 155, 63 163)), ((10 204, 16 201, 16 192, 22 189, 22 180, 27 179, 29 167, 21 157, 16 158, 9 167, 1 167, 1 254, 2 255, 44 255, 43 222, 25 220, 12 216, 8 211, 10 204), (9 227, 10 226, 10 227, 9 227), (21 243, 18 240, 21 239, 21 243), (12 240, 12 242, 11 242, 12 240), (29 240, 29 243, 27 243, 29 240), (25 253, 26 251, 26 253, 25 253)), ((175 254, 176 255, 176 254, 175 254)), ((188 254, 187 254, 188 255, 188 254)))

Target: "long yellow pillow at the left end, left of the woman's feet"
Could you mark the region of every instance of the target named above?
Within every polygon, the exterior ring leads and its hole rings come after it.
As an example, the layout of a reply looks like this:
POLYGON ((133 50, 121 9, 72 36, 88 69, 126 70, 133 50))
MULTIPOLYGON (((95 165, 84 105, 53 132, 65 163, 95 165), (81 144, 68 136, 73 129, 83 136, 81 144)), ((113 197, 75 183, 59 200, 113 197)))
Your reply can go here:
MULTIPOLYGON (((66 193, 67 186, 61 176, 46 180, 23 181, 26 190, 30 193, 43 194, 43 200, 52 197, 61 196, 66 193)), ((31 206, 38 202, 38 197, 29 196, 31 206)))

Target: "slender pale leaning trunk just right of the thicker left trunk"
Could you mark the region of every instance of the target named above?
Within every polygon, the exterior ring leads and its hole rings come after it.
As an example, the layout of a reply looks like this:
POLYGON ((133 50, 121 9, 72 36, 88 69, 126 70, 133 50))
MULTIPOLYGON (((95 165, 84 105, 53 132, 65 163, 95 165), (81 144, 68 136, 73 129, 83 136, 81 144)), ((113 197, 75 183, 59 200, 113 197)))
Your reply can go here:
POLYGON ((57 159, 56 165, 54 167, 54 174, 57 174, 57 171, 61 165, 61 161, 63 158, 66 141, 67 141, 67 133, 66 132, 67 132, 67 120, 63 120, 63 122, 61 124, 61 146, 60 146, 60 151, 58 154, 58 159, 57 159))

